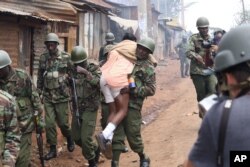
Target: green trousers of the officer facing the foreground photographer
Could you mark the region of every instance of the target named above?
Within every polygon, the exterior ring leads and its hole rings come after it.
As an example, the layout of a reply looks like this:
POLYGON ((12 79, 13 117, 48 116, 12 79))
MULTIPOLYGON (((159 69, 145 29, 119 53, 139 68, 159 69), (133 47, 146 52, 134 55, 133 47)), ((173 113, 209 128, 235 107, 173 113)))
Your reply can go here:
POLYGON ((217 78, 215 75, 191 75, 197 94, 197 101, 216 93, 217 78))

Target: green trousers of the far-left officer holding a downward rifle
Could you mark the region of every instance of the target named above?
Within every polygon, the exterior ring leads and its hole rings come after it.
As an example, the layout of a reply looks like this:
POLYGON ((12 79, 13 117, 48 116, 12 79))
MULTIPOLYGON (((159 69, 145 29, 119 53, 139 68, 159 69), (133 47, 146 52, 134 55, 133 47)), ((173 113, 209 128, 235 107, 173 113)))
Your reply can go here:
POLYGON ((29 167, 31 157, 32 133, 22 134, 20 151, 17 157, 16 167, 29 167))

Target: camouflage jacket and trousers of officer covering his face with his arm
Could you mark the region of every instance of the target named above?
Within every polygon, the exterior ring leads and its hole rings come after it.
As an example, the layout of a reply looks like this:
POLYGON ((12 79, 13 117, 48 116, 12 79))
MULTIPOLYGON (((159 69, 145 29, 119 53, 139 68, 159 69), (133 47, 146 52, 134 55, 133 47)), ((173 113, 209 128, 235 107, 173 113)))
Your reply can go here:
MULTIPOLYGON (((80 113, 80 127, 75 114, 72 117, 72 137, 82 148, 82 154, 87 160, 96 157, 97 145, 92 136, 95 132, 97 111, 100 104, 100 75, 99 66, 90 63, 86 68, 93 78, 89 80, 85 74, 72 72, 76 83, 76 94, 80 113)), ((72 90, 73 91, 73 90, 72 90)), ((98 155, 99 156, 99 155, 98 155)))

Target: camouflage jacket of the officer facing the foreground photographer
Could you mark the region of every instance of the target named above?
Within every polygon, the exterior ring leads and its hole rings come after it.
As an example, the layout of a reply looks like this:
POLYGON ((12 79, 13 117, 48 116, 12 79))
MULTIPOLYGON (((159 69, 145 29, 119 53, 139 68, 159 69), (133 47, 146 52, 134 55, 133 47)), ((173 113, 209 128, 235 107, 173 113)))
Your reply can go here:
MULTIPOLYGON (((205 62, 206 55, 212 55, 209 49, 202 47, 203 41, 206 41, 208 39, 210 39, 210 36, 207 36, 207 38, 204 39, 199 33, 193 34, 189 38, 188 50, 186 52, 186 55, 189 59, 191 59, 190 74, 205 75, 204 70, 207 68, 206 65, 199 63, 194 56, 200 55, 205 62)), ((212 66, 210 66, 210 68, 212 68, 212 66)))

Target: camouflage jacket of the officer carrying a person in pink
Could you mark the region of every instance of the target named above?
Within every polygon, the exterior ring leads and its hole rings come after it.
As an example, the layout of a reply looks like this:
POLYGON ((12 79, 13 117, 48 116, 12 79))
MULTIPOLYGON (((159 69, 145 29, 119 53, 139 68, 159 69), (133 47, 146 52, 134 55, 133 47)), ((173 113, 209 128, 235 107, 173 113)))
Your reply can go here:
POLYGON ((140 110, 144 99, 155 94, 155 70, 148 60, 137 60, 131 76, 136 88, 130 93, 129 107, 140 110))

